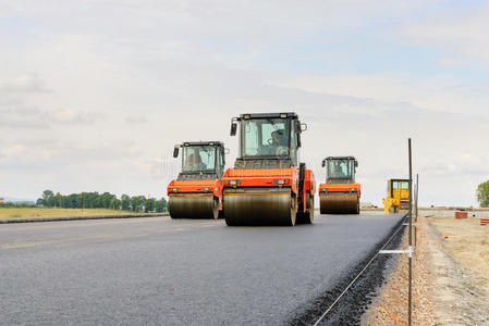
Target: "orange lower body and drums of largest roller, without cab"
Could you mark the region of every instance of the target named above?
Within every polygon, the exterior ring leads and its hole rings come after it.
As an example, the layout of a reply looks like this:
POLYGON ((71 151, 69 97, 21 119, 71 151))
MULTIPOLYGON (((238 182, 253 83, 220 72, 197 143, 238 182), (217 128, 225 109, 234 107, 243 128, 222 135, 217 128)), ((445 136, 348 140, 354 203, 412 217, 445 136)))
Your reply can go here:
POLYGON ((222 177, 227 224, 294 226, 313 223, 316 181, 313 172, 301 166, 229 168, 222 177), (283 180, 283 185, 278 185, 278 180, 283 180))

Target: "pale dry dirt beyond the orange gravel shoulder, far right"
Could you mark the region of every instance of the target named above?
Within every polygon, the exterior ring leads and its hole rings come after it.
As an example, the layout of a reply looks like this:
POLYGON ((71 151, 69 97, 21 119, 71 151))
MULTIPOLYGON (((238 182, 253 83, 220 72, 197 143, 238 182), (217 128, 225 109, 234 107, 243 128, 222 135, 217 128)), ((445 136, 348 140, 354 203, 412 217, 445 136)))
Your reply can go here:
POLYGON ((435 317, 439 325, 489 325, 489 227, 479 218, 428 217, 435 317))

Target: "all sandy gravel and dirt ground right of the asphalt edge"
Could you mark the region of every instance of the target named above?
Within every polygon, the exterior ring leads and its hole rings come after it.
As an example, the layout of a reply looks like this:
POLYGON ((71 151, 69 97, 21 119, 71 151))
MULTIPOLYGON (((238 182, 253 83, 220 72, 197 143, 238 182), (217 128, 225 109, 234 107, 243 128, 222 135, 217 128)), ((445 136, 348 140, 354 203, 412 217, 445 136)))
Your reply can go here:
MULTIPOLYGON (((420 216, 417 233, 412 325, 489 325, 489 226, 420 216)), ((399 255, 362 325, 407 325, 407 279, 399 255)))

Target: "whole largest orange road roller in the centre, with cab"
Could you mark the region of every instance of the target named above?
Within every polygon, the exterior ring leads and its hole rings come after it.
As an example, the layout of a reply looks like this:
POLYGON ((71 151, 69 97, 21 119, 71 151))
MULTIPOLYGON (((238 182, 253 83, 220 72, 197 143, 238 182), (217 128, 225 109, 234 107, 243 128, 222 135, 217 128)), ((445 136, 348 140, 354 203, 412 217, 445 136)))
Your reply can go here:
POLYGON ((242 114, 232 118, 231 136, 239 126, 240 155, 222 177, 225 223, 313 223, 316 183, 305 163, 298 163, 307 126, 291 112, 242 114))

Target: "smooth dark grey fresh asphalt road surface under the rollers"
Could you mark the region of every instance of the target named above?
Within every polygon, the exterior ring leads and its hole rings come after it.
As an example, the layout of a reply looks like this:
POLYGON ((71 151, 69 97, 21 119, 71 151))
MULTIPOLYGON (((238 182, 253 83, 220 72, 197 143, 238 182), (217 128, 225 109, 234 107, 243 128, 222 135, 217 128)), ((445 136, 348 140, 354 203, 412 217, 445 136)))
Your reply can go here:
POLYGON ((0 325, 277 325, 401 215, 295 227, 169 217, 0 225, 0 325))

